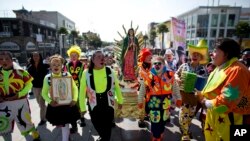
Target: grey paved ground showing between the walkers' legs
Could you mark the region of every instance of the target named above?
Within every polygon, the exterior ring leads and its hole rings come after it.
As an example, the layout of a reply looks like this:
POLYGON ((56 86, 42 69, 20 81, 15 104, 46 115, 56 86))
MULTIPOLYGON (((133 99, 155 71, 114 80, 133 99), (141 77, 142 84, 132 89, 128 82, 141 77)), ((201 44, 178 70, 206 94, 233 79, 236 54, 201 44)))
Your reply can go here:
MULTIPOLYGON (((40 121, 39 118, 39 107, 33 96, 29 99, 32 121, 37 124, 40 121)), ((71 134, 72 141, 95 141, 99 136, 95 131, 89 114, 85 115, 86 126, 81 128, 78 125, 78 133, 71 134)), ((139 128, 136 119, 120 118, 116 119, 116 127, 112 130, 111 141, 150 141, 150 132, 147 128, 139 128)), ((14 127, 14 132, 12 134, 13 141, 26 141, 23 136, 21 136, 17 126, 14 127)), ((61 130, 51 126, 49 123, 44 126, 37 127, 40 133, 42 141, 61 141, 61 130)), ((193 133, 193 141, 204 141, 204 136, 201 132, 200 122, 196 119, 193 120, 193 124, 190 129, 193 133)), ((172 117, 172 122, 166 125, 166 130, 164 133, 164 141, 179 141, 181 138, 181 133, 178 128, 178 111, 175 111, 175 115, 172 117)), ((0 137, 0 141, 2 141, 0 137)), ((27 137, 27 141, 32 141, 31 136, 27 137)))

